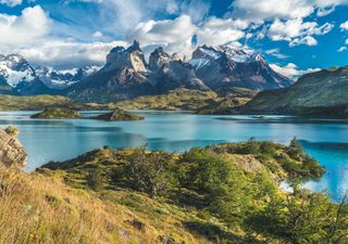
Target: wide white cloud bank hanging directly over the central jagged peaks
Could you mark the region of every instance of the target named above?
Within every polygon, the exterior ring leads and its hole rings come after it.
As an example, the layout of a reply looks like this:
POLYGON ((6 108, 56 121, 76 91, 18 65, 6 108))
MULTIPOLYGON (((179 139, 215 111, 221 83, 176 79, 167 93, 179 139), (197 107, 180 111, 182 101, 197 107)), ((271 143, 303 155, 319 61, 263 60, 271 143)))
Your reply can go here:
POLYGON ((139 40, 145 50, 147 47, 164 46, 170 53, 190 56, 196 44, 220 46, 238 41, 246 37, 245 29, 248 26, 249 23, 241 20, 216 17, 196 25, 189 15, 182 15, 175 20, 140 23, 127 40, 139 40), (192 43, 194 38, 196 43, 192 43))

